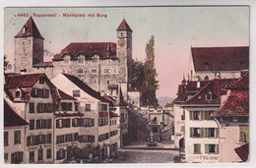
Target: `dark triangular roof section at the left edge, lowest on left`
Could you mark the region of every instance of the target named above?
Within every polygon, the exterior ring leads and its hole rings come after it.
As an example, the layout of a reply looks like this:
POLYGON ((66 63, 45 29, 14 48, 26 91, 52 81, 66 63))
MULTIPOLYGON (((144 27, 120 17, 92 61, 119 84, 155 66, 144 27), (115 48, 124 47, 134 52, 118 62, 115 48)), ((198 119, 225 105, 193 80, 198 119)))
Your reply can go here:
POLYGON ((30 125, 25 121, 20 115, 18 115, 4 100, 4 127, 16 127, 16 126, 25 126, 30 125))

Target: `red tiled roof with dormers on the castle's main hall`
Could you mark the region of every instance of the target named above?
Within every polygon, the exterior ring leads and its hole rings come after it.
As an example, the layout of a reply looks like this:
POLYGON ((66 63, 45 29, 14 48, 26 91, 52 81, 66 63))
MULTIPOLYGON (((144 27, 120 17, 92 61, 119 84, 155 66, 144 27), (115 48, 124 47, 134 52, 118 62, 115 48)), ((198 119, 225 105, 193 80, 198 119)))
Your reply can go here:
POLYGON ((87 59, 91 59, 94 54, 98 54, 102 59, 115 59, 116 44, 113 42, 72 42, 59 54, 56 54, 52 60, 63 60, 65 54, 70 55, 70 59, 78 59, 79 54, 85 55, 87 59))

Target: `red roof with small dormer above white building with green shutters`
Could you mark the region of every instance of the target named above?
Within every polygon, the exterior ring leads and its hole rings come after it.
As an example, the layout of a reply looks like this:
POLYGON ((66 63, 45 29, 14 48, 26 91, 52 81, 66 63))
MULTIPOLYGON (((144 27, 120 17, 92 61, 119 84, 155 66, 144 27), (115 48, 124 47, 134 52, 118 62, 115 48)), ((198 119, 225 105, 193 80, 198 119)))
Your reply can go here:
POLYGON ((215 79, 203 86, 191 99, 183 104, 221 104, 221 95, 226 92, 224 86, 235 81, 235 79, 215 79), (206 94, 209 92, 212 93, 212 99, 206 98, 206 94))

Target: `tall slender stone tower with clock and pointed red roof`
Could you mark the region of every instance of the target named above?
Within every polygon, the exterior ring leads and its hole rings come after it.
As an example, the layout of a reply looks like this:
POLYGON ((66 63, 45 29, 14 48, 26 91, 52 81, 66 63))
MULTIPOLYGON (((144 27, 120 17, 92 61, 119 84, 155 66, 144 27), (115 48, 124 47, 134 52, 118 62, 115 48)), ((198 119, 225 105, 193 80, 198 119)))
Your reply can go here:
POLYGON ((117 31, 117 58, 120 60, 120 69, 125 72, 128 89, 132 87, 132 32, 133 30, 126 23, 125 19, 121 22, 117 31))

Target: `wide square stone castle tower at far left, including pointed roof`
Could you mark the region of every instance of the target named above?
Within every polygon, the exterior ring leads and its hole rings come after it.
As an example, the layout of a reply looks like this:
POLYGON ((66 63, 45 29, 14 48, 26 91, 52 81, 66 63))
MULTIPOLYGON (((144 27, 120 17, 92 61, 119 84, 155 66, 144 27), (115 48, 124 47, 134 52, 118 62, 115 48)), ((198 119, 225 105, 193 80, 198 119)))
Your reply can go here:
POLYGON ((32 17, 15 36, 15 73, 33 72, 33 66, 43 62, 43 37, 32 17))

